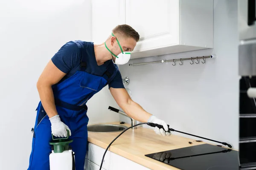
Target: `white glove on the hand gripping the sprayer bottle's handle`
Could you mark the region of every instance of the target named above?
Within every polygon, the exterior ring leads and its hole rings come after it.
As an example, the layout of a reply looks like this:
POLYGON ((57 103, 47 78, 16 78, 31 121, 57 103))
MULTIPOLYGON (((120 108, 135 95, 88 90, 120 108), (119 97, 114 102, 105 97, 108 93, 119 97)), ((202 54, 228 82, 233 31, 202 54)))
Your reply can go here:
POLYGON ((70 128, 61 122, 59 115, 53 116, 49 120, 52 124, 52 135, 56 137, 67 137, 67 130, 69 130, 69 134, 71 136, 70 128))

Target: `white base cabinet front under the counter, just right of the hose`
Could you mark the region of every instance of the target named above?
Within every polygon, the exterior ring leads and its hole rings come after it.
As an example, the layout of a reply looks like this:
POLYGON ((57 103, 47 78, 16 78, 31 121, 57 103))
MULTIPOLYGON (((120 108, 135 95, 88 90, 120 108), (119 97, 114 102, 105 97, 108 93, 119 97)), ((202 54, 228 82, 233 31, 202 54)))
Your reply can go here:
POLYGON ((150 170, 134 161, 111 152, 110 170, 150 170))

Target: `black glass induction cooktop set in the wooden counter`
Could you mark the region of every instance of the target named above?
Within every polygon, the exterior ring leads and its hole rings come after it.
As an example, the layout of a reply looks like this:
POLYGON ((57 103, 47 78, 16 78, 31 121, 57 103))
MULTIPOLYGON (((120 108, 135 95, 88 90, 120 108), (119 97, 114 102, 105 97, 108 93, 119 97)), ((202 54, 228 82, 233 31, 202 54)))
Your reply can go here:
POLYGON ((145 155, 181 170, 239 170, 239 152, 200 144, 145 155))

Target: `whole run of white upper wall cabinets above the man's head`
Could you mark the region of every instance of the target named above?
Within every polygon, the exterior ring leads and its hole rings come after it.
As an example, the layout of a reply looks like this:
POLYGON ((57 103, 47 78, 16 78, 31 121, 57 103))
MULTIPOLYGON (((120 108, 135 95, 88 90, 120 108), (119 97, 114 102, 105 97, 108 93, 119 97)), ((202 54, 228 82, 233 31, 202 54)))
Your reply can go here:
POLYGON ((93 0, 92 39, 119 24, 140 34, 131 59, 213 48, 213 0, 93 0))

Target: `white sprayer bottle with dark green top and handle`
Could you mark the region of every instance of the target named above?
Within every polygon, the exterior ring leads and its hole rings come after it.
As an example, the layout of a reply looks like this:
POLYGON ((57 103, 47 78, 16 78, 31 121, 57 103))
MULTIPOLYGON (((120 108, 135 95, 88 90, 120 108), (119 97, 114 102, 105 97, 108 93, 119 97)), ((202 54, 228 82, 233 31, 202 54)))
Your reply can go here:
POLYGON ((67 138, 54 139, 49 144, 53 145, 52 153, 49 155, 50 170, 75 170, 75 154, 68 145, 73 142, 69 140, 69 131, 67 138))

